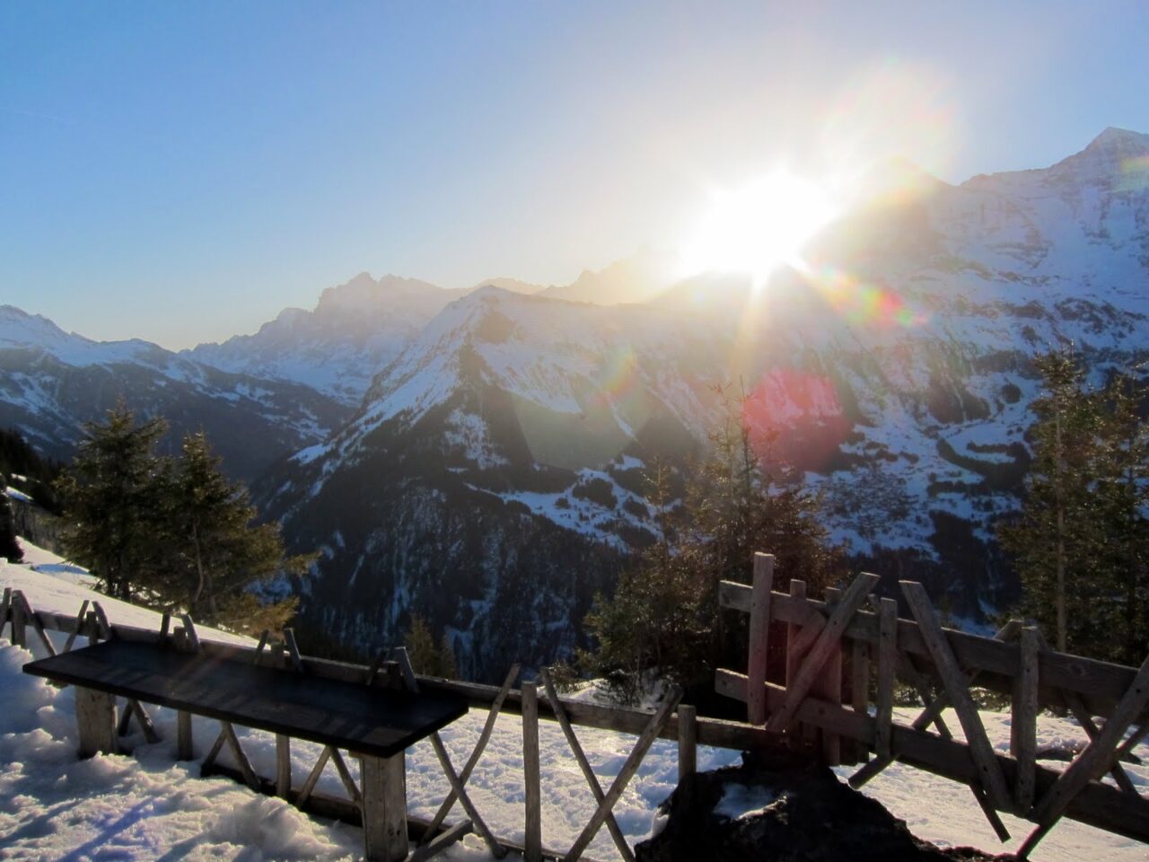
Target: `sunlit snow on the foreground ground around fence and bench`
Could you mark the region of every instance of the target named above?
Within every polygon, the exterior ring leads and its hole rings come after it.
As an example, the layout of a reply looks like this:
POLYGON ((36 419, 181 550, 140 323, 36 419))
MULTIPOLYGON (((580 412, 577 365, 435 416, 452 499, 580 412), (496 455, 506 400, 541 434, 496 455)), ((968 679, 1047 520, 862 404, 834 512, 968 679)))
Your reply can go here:
MULTIPOLYGON (((69 567, 38 548, 25 545, 25 564, 0 564, 0 587, 23 590, 36 609, 76 613, 84 599, 99 598, 113 622, 131 625, 159 624, 159 615, 92 593, 82 570, 69 567), (40 569, 40 571, 36 571, 40 569), (77 583, 80 582, 80 583, 77 583)), ((6 632, 7 633, 7 632, 6 632)), ((246 639, 211 630, 203 638, 246 639)), ((63 641, 63 636, 60 642, 63 641)), ((162 741, 148 745, 142 736, 129 737, 128 756, 76 760, 75 699, 72 688, 55 688, 21 672, 22 665, 43 647, 31 652, 0 641, 0 859, 13 860, 346 860, 358 859, 358 829, 301 814, 282 800, 261 796, 226 778, 200 778, 199 762, 173 760, 175 714, 149 707, 162 741)), ((909 711, 909 710, 908 710, 909 711)), ((990 738, 1000 751, 1008 748, 1009 716, 985 714, 990 738)), ((456 768, 478 738, 485 714, 472 711, 444 731, 456 768)), ((907 718, 908 719, 908 718, 907 718)), ((947 716, 955 730, 958 722, 947 716)), ((132 725, 134 729, 134 724, 132 725)), ((1051 716, 1039 722, 1039 744, 1084 739, 1073 723, 1051 716)), ((211 745, 217 725, 195 718, 196 752, 211 745)), ((256 770, 275 774, 275 739, 260 731, 237 728, 244 749, 256 770)), ((592 765, 607 785, 617 775, 634 738, 607 731, 578 729, 592 765)), ((295 782, 301 783, 319 755, 319 746, 292 742, 295 782)), ((578 765, 557 725, 540 726, 542 756, 543 844, 569 847, 594 805, 578 765)), ((1149 746, 1138 754, 1149 759, 1149 746)), ((230 755, 223 755, 224 762, 230 755)), ((715 769, 735 763, 737 752, 701 748, 699 768, 715 769)), ((355 767, 349 763, 353 772, 355 767)), ((430 817, 448 787, 430 745, 408 752, 407 792, 412 814, 430 817)), ((1128 767, 1138 786, 1149 790, 1149 767, 1128 767)), ((845 776, 847 769, 841 770, 845 776)), ((517 716, 501 717, 483 760, 469 783, 479 811, 499 836, 522 840, 522 733, 517 716)), ((673 788, 677 746, 658 741, 619 801, 616 817, 629 840, 645 838, 654 809, 673 788)), ((340 795, 334 770, 327 770, 319 788, 340 795)), ((942 845, 976 845, 987 851, 1001 847, 966 787, 900 764, 889 767, 866 786, 910 829, 942 845)), ((743 794, 745 795, 745 794, 743 794)), ((756 807, 753 794, 726 800, 731 816, 756 807), (734 810, 740 809, 740 810, 734 810)), ((458 816, 457 814, 455 816, 458 816)), ((1030 824, 1004 817, 1013 832, 1013 848, 1030 824)), ((1003 848, 1003 849, 1007 849, 1003 848)), ((589 853, 615 859, 606 830, 589 853)), ((1041 842, 1038 862, 1078 862, 1084 859, 1133 862, 1149 856, 1146 845, 1123 839, 1071 821, 1063 821, 1041 842)), ((491 859, 481 842, 469 836, 444 859, 477 862, 491 859)))

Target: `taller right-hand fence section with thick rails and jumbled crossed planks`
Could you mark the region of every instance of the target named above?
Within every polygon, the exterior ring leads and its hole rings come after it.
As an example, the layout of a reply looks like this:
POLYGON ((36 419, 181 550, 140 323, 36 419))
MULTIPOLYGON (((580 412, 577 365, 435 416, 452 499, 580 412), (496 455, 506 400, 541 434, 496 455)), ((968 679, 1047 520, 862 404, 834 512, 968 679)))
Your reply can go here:
POLYGON ((1120 764, 1149 733, 1149 659, 1135 669, 1058 653, 1020 622, 994 638, 943 629, 925 588, 909 580, 901 588, 913 619, 900 619, 893 599, 871 595, 878 580, 863 574, 816 601, 800 580, 789 583, 788 593, 776 592, 773 556, 756 554, 753 585, 720 585, 720 603, 750 615, 750 644, 747 674, 719 670, 717 691, 746 702, 754 726, 819 737, 831 764, 864 762, 872 753, 850 778, 853 786, 895 760, 970 785, 1002 840, 1009 832, 997 811, 1036 824, 1019 857, 1063 815, 1149 841, 1149 800, 1120 764), (776 647, 785 671, 770 679, 776 647), (897 678, 921 699, 921 713, 908 724, 894 719, 897 678), (973 685, 1010 699, 1010 756, 994 752, 973 685), (942 718, 947 707, 957 715, 963 742, 942 718), (1071 711, 1089 736, 1062 771, 1038 763, 1036 718, 1044 708, 1071 711), (1100 780, 1105 774, 1116 787, 1100 780))

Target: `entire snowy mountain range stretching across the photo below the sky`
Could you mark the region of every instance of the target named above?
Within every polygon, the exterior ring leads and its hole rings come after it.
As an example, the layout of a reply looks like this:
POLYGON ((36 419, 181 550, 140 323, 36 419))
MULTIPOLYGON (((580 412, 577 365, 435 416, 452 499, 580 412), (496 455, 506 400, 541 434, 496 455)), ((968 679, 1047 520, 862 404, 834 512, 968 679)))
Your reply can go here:
POLYGON ((979 618, 1016 590, 993 523, 1028 464, 1032 357, 1072 341, 1096 380, 1149 360, 1149 136, 1108 129, 958 186, 886 166, 805 260, 758 294, 673 283, 653 254, 563 287, 361 275, 179 355, 5 309, 0 423, 67 445, 99 400, 60 394, 77 377, 105 401, 126 386, 146 411, 207 411, 221 449, 261 448, 229 457, 261 474, 265 513, 322 551, 295 585, 304 626, 381 644, 416 613, 486 677, 578 641, 654 533, 646 469, 697 452, 714 387, 735 384, 858 564, 979 618))

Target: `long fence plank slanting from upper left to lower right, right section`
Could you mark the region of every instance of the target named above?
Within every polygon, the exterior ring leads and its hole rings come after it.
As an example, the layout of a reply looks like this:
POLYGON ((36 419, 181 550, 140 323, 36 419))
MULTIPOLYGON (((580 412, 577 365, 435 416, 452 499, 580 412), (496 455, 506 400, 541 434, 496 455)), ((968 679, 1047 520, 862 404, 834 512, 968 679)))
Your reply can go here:
POLYGON ((986 736, 986 729, 981 724, 981 716, 978 715, 978 707, 970 696, 970 690, 965 687, 965 675, 957 664, 953 651, 946 640, 946 634, 938 621, 938 613, 926 590, 921 584, 913 580, 901 582, 902 593, 910 605, 913 618, 917 619, 921 637, 930 648, 934 667, 949 693, 950 703, 957 718, 965 731, 966 745, 970 755, 978 767, 979 782, 989 796, 989 802, 996 809, 1008 810, 1011 808, 1009 788, 1005 786, 1005 777, 1002 775, 1001 765, 994 755, 994 748, 986 736))

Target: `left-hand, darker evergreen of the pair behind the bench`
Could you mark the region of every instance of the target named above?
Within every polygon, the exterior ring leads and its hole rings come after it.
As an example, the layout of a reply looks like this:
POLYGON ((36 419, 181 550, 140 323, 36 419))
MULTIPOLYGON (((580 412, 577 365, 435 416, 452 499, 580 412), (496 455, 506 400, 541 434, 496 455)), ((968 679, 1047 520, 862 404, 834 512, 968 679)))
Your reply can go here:
POLYGON ((76 459, 57 480, 65 552, 119 599, 151 587, 160 571, 155 445, 165 430, 161 418, 137 425, 121 401, 103 424, 84 425, 76 459))

